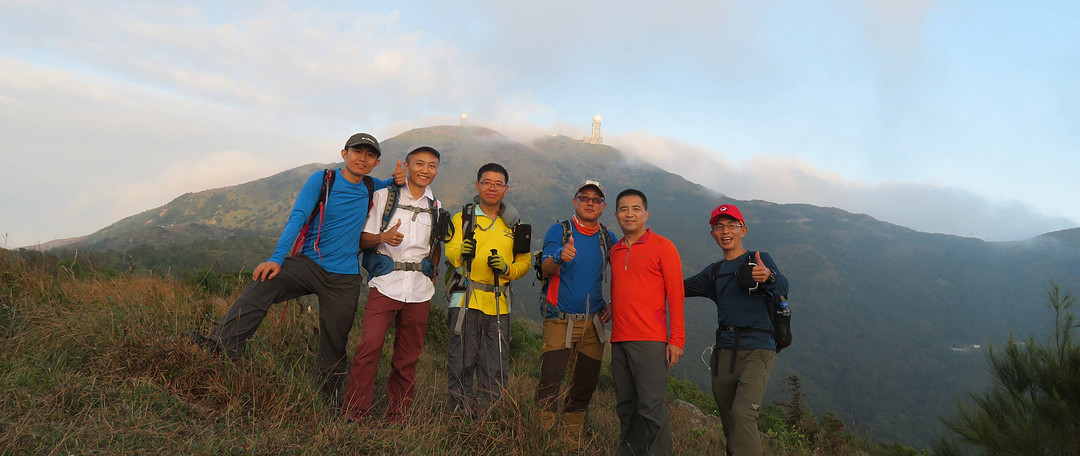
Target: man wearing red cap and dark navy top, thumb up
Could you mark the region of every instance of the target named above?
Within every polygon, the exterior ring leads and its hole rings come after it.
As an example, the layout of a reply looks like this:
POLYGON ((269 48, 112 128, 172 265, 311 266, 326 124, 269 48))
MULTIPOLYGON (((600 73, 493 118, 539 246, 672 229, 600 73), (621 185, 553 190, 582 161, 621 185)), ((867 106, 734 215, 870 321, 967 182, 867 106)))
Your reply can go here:
POLYGON ((703 296, 716 303, 718 327, 710 367, 728 455, 760 455, 757 416, 777 358, 777 343, 769 312, 755 292, 764 289, 772 295, 787 295, 787 278, 768 253, 743 247, 747 228, 739 207, 719 205, 708 225, 724 258, 683 284, 687 297, 703 296), (751 280, 739 277, 741 268, 743 273, 750 271, 751 280))

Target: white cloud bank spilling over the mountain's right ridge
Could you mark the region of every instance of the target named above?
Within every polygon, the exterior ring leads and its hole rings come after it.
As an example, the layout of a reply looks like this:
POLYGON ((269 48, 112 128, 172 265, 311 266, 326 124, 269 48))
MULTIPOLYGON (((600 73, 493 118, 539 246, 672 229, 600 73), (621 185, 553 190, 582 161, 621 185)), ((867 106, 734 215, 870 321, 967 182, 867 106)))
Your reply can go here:
POLYGON ((648 132, 609 136, 608 140, 631 157, 740 200, 834 206, 919 231, 988 241, 1027 239, 1077 225, 1040 214, 1016 200, 989 201, 933 183, 848 179, 818 170, 798 156, 759 155, 737 163, 723 151, 648 132))

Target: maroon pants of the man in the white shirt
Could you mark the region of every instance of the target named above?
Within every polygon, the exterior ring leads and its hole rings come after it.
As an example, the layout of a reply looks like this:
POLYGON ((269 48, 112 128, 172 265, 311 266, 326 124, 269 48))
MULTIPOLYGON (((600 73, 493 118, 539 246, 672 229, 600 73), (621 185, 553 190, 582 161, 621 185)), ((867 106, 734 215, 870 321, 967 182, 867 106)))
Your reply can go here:
POLYGON ((390 377, 387 380, 387 418, 400 420, 413 403, 416 394, 416 361, 423 351, 423 338, 428 332, 428 310, 430 300, 423 303, 402 303, 391 299, 372 289, 367 294, 363 334, 356 356, 349 368, 349 385, 345 392, 345 413, 359 418, 372 408, 375 391, 375 371, 382 357, 382 343, 387 338, 390 322, 394 323, 394 353, 390 361, 390 377))

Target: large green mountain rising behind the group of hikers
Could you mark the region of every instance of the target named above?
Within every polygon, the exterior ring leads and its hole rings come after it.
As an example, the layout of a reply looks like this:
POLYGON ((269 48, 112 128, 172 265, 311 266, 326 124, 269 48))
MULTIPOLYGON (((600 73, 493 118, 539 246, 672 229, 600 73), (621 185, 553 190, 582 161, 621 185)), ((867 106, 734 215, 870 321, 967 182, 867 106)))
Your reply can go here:
MULTIPOLYGON (((611 147, 564 136, 521 144, 483 128, 438 126, 382 144, 375 173, 380 177, 414 146, 442 151, 434 189, 448 206, 471 199, 481 164, 502 163, 510 170, 507 199, 535 225, 537 246, 551 223, 569 215, 570 191, 584 178, 598 178, 612 199, 624 188, 642 189, 649 197, 649 225, 675 242, 687 276, 719 255, 706 232, 708 212, 721 202, 738 204, 747 216, 747 247, 770 252, 792 282, 795 345, 779 357, 770 395, 780 391, 785 374, 797 374, 816 414, 835 412, 849 427, 882 440, 927 445, 943 430, 937 416, 986 385, 984 353, 953 348, 985 347, 1010 331, 1041 332, 1047 310, 1040 296, 1049 280, 1080 287, 1075 231, 991 243, 918 232, 834 207, 732 200, 611 147)), ((337 151, 327 150, 326 157, 333 160, 337 151)), ((272 240, 303 179, 326 166, 335 165, 311 164, 187 193, 77 245, 176 244, 220 239, 227 234, 221 230, 272 240), (178 232, 176 227, 187 228, 172 237, 151 236, 160 229, 178 232)), ((602 222, 618 232, 612 209, 602 222)), ((535 318, 538 294, 530 282, 518 285, 514 311, 535 318)), ((715 316, 707 300, 687 305, 688 356, 675 373, 701 386, 707 370, 697 358, 711 345, 715 316)))

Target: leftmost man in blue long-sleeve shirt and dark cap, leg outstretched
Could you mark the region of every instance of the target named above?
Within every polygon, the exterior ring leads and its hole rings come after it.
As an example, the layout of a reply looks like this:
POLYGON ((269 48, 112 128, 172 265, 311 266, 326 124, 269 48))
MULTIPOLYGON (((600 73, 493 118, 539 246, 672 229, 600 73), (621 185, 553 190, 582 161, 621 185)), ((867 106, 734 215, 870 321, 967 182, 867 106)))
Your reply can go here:
MULTIPOLYGON (((327 376, 325 390, 336 394, 349 366, 346 341, 364 284, 360 273, 360 233, 367 219, 370 190, 391 183, 370 179, 369 187, 364 182, 379 164, 381 155, 375 137, 366 133, 352 135, 341 149, 345 163, 333 171, 328 195, 321 209, 319 202, 325 174, 322 171, 305 183, 270 259, 255 268, 252 282, 210 337, 194 331, 189 331, 188 336, 200 346, 237 359, 243 354, 247 339, 255 334, 271 305, 314 294, 319 296, 319 368, 327 376), (309 220, 308 236, 299 253, 286 257, 309 220)), ((404 180, 404 172, 401 179, 404 180)))

